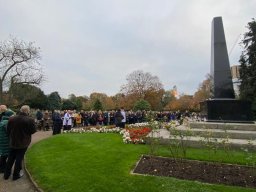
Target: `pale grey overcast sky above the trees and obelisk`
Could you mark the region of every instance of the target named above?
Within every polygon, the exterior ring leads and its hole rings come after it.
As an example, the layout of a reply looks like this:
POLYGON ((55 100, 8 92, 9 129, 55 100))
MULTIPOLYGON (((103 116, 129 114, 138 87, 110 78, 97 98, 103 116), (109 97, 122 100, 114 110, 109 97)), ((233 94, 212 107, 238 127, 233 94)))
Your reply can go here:
POLYGON ((255 0, 0 0, 0 41, 41 48, 45 94, 115 95, 135 70, 193 94, 210 72, 211 22, 222 16, 230 64, 255 0))

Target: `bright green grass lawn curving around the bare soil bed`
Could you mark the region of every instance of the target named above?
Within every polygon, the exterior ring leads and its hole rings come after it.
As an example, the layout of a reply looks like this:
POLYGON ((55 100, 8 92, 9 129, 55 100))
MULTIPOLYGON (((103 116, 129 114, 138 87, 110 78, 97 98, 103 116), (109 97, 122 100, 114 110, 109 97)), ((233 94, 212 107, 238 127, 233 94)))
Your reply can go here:
MULTIPOLYGON (((119 134, 62 134, 33 145, 26 154, 26 164, 45 192, 256 191, 131 174, 140 156, 148 153, 149 146, 124 144, 119 134)), ((163 147, 158 154, 169 155, 163 147)), ((192 159, 209 160, 209 156, 204 150, 188 150, 188 157, 192 159)), ((224 152, 218 152, 213 159, 223 156, 226 162, 245 163, 242 153, 229 158, 224 152)))

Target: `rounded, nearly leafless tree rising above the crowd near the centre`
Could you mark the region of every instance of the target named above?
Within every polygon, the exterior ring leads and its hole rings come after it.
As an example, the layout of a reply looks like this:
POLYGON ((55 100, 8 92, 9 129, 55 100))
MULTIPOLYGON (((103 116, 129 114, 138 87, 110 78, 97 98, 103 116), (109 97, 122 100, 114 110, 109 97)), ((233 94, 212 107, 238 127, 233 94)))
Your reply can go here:
POLYGON ((155 92, 163 89, 163 85, 157 76, 137 70, 129 74, 126 78, 127 84, 121 87, 121 92, 126 95, 134 94, 138 98, 144 99, 147 92, 155 92))

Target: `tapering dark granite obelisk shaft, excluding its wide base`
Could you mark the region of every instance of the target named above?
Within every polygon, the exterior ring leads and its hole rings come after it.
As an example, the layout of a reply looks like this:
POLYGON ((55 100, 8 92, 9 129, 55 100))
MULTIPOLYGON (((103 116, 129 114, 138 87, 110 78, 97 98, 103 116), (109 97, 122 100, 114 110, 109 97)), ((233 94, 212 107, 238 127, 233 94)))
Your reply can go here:
POLYGON ((211 76, 213 98, 235 98, 221 17, 215 17, 212 20, 211 76))

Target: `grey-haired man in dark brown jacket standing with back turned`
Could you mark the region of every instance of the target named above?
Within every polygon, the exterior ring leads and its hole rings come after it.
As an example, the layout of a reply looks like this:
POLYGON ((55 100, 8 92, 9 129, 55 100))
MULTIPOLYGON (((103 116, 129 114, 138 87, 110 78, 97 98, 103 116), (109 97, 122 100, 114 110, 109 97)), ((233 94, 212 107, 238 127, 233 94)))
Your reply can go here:
POLYGON ((20 109, 20 113, 11 117, 7 124, 7 135, 10 139, 10 153, 7 160, 4 179, 7 180, 13 170, 13 180, 17 180, 23 176, 22 161, 31 143, 31 135, 36 132, 35 121, 29 117, 30 108, 24 105, 20 109))

